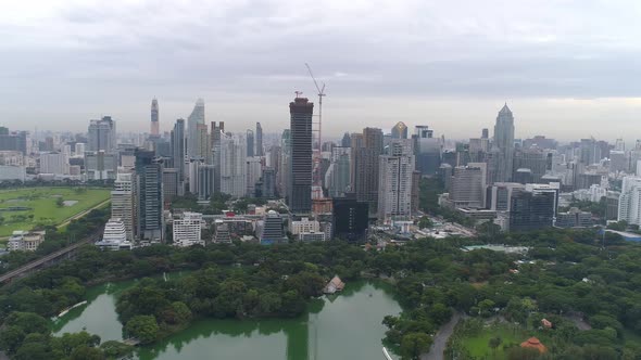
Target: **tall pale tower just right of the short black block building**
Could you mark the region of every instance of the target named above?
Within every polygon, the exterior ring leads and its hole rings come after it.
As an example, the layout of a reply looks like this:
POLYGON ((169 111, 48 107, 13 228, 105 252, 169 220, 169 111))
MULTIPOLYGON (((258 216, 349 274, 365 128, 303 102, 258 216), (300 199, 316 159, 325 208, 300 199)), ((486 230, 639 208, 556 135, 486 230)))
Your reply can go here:
POLYGON ((394 139, 387 155, 379 156, 378 220, 390 223, 394 218, 412 215, 414 151, 412 140, 394 139))

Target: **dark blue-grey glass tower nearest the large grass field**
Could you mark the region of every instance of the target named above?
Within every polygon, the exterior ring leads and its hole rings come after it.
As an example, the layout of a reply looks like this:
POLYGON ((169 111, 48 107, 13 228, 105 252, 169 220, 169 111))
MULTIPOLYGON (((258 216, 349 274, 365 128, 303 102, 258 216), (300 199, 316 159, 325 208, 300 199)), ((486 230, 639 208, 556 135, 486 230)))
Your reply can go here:
POLYGON ((163 162, 153 152, 136 151, 136 232, 141 240, 165 239, 163 162))

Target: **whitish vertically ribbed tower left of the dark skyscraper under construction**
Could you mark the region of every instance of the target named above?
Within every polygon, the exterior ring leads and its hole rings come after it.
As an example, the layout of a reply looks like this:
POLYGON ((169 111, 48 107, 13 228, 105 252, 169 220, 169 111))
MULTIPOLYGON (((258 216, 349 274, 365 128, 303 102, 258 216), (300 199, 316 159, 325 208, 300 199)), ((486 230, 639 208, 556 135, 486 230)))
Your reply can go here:
POLYGON ((243 197, 247 192, 247 143, 241 136, 221 137, 221 192, 243 197))

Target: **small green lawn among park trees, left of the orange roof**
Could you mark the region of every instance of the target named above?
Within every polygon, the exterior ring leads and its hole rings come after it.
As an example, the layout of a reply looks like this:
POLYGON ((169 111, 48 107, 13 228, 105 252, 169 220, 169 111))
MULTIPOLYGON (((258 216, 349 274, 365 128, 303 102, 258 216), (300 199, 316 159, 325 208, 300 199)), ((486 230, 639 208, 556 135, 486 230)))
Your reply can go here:
POLYGON ((518 346, 528 337, 521 330, 513 330, 510 325, 490 325, 478 335, 463 339, 462 344, 470 356, 478 359, 505 359, 504 346, 510 344, 518 346), (501 345, 495 350, 492 350, 489 346, 490 338, 497 336, 501 337, 501 345))

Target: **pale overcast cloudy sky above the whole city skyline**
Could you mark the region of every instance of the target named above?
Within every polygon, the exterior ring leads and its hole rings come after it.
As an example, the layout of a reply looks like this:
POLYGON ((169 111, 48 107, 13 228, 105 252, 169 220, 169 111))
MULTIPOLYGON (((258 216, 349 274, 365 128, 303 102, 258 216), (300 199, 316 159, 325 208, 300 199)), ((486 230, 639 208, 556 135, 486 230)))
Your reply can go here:
POLYGON ((641 138, 641 1, 0 2, 0 125, 161 129, 198 98, 231 131, 288 127, 294 91, 324 132, 399 120, 478 137, 507 101, 517 137, 641 138))

